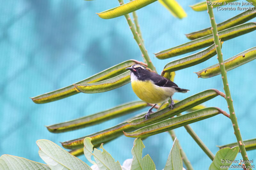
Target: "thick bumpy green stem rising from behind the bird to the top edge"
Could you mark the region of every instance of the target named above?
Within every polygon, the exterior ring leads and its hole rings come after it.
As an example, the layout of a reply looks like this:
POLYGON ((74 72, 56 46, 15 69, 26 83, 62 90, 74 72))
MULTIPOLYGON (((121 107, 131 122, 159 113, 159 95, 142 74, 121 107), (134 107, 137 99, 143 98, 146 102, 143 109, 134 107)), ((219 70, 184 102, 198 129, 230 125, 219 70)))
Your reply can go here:
MULTIPOLYGON (((123 0, 118 0, 118 2, 120 3, 120 5, 124 4, 123 0)), ((130 29, 131 29, 132 34, 133 34, 133 38, 135 39, 135 41, 137 42, 137 44, 140 48, 140 51, 142 53, 142 57, 144 58, 144 60, 148 64, 148 68, 150 68, 151 70, 156 72, 156 68, 155 68, 155 66, 153 65, 153 63, 151 62, 151 60, 148 56, 148 51, 144 47, 143 41, 140 39, 139 33, 136 31, 136 28, 135 28, 134 24, 132 23, 130 15, 126 14, 124 16, 127 20, 128 25, 130 26, 130 29)))

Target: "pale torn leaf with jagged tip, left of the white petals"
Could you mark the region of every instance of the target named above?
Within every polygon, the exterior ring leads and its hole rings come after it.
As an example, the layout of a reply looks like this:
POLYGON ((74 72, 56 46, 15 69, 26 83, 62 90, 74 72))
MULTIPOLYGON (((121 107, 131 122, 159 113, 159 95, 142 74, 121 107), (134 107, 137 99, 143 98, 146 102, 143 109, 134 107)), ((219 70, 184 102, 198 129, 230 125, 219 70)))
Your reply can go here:
POLYGON ((122 167, 118 161, 115 162, 115 159, 103 148, 103 144, 100 145, 102 152, 94 148, 93 157, 97 163, 97 166, 100 170, 122 170, 122 167))

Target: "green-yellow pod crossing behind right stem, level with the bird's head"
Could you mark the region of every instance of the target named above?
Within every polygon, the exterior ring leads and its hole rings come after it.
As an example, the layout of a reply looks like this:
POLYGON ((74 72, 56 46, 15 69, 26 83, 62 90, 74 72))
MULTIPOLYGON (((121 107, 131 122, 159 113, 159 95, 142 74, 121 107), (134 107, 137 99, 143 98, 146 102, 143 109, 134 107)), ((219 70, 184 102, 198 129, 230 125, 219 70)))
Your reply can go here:
MULTIPOLYGON (((235 69, 245 63, 248 63, 256 58, 256 47, 250 48, 242 53, 239 53, 231 58, 224 61, 225 68, 227 71, 235 69)), ((211 67, 207 67, 203 70, 196 72, 200 78, 210 78, 220 74, 220 65, 215 64, 211 67)))

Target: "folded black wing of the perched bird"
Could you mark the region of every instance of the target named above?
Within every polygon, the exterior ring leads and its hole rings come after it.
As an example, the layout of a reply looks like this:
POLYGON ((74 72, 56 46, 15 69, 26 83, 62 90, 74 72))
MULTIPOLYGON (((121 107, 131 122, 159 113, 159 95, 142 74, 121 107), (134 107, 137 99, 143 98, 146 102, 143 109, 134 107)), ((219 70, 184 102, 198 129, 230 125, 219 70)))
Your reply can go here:
POLYGON ((161 86, 161 87, 178 87, 175 83, 173 83, 171 80, 168 80, 167 78, 164 78, 163 76, 152 73, 150 79, 154 82, 155 85, 161 86))

